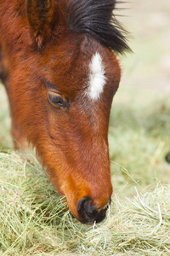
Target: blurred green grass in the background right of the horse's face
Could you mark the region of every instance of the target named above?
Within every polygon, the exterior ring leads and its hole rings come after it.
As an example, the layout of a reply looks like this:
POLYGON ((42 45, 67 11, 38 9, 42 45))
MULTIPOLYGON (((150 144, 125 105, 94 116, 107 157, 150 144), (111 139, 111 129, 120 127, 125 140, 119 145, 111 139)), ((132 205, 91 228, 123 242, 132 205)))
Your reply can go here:
POLYGON ((170 150, 169 113, 165 94, 127 87, 118 91, 109 133, 116 192, 122 193, 125 186, 124 192, 130 195, 133 184, 144 189, 154 188, 157 179, 168 182, 170 167, 165 155, 170 150))

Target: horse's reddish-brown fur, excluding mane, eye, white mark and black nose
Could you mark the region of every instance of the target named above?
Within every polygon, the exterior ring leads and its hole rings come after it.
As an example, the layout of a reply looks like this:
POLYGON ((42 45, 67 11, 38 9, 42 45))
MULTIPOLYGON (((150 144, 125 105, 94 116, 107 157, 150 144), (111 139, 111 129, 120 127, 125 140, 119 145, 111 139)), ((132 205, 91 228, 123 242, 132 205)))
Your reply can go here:
POLYGON ((39 20, 34 1, 0 1, 0 67, 15 148, 25 147, 25 137, 37 148, 59 194, 81 219, 77 201, 88 195, 102 209, 112 193, 107 135, 120 68, 111 49, 68 29, 65 1, 46 2, 52 9, 44 9, 39 20), (83 92, 96 51, 104 60, 107 84, 99 101, 92 102, 83 92), (68 108, 48 102, 48 84, 68 99, 68 108))

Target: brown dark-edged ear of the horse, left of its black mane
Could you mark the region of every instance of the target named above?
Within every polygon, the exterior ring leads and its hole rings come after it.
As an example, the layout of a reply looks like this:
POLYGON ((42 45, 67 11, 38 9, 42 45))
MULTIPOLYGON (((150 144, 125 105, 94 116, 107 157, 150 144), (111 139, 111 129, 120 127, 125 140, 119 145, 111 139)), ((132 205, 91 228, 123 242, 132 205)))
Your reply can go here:
POLYGON ((61 11, 54 0, 27 0, 26 15, 31 36, 39 48, 59 23, 61 11))

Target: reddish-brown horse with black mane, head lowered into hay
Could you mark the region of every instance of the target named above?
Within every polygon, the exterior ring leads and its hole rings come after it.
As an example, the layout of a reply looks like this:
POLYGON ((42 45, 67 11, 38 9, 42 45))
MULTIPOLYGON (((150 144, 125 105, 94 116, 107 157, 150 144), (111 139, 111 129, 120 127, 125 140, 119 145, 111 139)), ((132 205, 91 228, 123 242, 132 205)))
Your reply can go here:
POLYGON ((36 149, 82 223, 105 218, 108 125, 128 49, 115 0, 0 0, 0 78, 15 148, 36 149))

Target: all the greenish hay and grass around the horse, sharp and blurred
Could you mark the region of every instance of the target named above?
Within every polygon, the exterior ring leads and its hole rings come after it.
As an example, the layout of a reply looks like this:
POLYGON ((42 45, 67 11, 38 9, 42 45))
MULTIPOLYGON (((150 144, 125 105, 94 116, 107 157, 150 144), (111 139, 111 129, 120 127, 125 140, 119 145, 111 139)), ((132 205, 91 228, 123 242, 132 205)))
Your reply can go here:
POLYGON ((118 91, 109 133, 111 208, 101 224, 83 225, 71 218, 33 153, 5 150, 12 139, 0 90, 0 255, 169 255, 167 96, 118 91))

